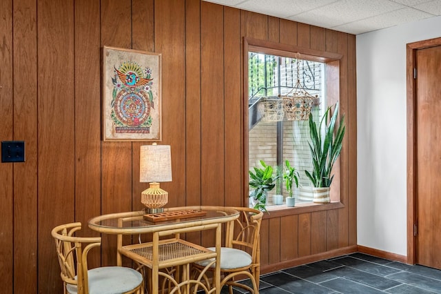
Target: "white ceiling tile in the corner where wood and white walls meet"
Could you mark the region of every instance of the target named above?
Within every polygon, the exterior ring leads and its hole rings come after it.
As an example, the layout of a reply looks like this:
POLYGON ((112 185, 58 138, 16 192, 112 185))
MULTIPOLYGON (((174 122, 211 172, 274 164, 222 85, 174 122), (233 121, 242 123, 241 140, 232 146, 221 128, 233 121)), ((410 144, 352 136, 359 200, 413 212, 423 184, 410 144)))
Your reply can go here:
POLYGON ((418 21, 420 19, 427 19, 429 17, 433 17, 433 15, 413 8, 402 8, 400 10, 394 10, 377 15, 375 17, 362 19, 360 21, 345 23, 341 26, 336 26, 333 29, 340 30, 342 32, 350 32, 351 34, 357 35, 361 34, 362 32, 389 28, 400 23, 409 23, 411 21, 418 21))

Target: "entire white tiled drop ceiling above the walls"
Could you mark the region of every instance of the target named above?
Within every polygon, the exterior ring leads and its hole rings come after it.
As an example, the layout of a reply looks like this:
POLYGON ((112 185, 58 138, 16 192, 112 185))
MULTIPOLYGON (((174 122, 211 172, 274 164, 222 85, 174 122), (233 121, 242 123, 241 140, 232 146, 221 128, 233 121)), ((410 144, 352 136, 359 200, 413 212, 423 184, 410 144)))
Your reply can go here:
MULTIPOLYGON (((1 1, 1 0, 0 0, 1 1)), ((322 28, 360 34, 441 15, 441 0, 203 0, 322 28), (402 10, 403 8, 415 10, 402 10), (400 11, 402 10, 402 11, 400 11), (387 13, 396 11, 396 13, 387 13), (411 14, 415 14, 412 16, 411 14), (422 16, 423 15, 423 16, 422 16), (376 17, 378 16, 378 17, 376 17), (374 18, 375 17, 375 18, 374 18), (383 17, 385 20, 383 20, 383 17), (388 18, 389 17, 389 18, 388 18), (396 23, 394 23, 396 21, 396 23)))

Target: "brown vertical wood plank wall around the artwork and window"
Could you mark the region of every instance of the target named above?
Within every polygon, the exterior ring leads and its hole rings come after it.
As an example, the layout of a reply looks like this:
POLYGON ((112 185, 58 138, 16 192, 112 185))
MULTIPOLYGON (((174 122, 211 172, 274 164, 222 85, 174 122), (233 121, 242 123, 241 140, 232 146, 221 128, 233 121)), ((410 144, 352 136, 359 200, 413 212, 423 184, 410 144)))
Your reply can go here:
MULTIPOLYGON (((143 143, 101 141, 102 46, 162 53, 169 206, 243 204, 243 37, 340 53, 344 208, 265 217, 262 268, 356 245, 354 35, 200 0, 1 1, 0 26, 0 140, 26 144, 24 163, 0 164, 1 293, 60 293, 52 227, 80 221, 96 235, 90 217, 143 207, 143 143)), ((102 237, 93 266, 116 261, 102 237)))

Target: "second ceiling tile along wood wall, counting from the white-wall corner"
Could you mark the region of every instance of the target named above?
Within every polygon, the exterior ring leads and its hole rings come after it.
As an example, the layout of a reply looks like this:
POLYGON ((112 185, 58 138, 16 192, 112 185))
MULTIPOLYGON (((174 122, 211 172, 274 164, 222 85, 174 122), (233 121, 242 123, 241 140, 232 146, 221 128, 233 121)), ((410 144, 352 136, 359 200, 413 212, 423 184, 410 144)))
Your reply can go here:
POLYGON ((340 0, 327 6, 289 17, 289 19, 329 28, 366 19, 376 14, 398 10, 403 7, 401 4, 388 0, 340 0))

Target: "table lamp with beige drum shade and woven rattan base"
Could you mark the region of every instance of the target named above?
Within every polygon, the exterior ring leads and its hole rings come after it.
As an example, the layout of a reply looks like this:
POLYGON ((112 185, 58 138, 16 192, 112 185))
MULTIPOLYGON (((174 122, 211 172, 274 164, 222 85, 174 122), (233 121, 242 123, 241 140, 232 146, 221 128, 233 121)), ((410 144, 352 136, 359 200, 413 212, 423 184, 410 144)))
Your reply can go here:
POLYGON ((170 145, 141 146, 139 182, 150 183, 150 187, 141 193, 141 202, 147 207, 147 213, 162 213, 168 202, 168 192, 159 187, 159 182, 172 182, 170 145))

